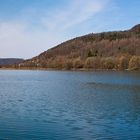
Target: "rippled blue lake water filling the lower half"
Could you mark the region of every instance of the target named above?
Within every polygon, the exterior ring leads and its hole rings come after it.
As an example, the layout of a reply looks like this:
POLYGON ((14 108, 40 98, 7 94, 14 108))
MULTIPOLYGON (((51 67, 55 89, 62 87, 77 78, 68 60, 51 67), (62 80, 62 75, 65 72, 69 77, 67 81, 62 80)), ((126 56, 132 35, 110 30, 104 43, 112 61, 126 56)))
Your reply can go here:
POLYGON ((140 140, 140 73, 0 71, 0 140, 140 140))

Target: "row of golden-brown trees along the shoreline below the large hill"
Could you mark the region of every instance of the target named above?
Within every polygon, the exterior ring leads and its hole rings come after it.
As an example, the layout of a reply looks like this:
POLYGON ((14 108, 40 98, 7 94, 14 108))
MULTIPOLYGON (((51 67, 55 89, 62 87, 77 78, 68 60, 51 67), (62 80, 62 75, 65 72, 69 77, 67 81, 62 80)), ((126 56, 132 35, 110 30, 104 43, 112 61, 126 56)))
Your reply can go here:
POLYGON ((16 68, 52 68, 52 69, 93 69, 93 70, 140 70, 140 56, 125 55, 121 57, 87 57, 68 59, 58 57, 42 63, 29 61, 26 65, 16 65, 16 68))

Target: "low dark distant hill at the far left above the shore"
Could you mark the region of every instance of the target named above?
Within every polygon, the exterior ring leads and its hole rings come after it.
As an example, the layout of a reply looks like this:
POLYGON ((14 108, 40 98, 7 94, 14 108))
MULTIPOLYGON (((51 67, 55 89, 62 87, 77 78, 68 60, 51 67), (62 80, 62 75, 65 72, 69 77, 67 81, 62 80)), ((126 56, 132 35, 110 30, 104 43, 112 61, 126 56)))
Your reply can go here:
POLYGON ((23 59, 17 58, 0 58, 0 67, 5 67, 8 65, 14 65, 23 62, 23 59))

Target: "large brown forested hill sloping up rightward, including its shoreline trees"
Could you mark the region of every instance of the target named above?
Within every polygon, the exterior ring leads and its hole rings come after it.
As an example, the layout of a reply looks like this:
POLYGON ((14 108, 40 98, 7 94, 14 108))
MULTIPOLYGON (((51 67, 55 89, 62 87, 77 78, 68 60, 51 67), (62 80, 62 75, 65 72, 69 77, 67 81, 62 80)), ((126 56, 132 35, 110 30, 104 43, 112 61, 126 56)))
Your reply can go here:
POLYGON ((140 24, 126 31, 91 33, 74 38, 16 67, 140 69, 140 24))

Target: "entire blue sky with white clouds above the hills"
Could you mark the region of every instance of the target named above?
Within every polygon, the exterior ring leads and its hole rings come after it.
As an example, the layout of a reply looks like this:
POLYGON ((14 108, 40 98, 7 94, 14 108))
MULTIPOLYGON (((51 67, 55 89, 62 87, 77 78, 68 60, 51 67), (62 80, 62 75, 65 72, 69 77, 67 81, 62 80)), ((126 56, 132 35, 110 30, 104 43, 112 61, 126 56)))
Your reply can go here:
POLYGON ((0 58, 32 58, 66 40, 140 23, 140 0, 0 0, 0 58))

